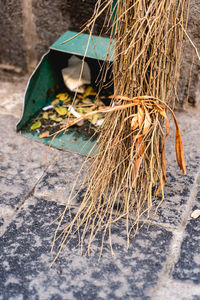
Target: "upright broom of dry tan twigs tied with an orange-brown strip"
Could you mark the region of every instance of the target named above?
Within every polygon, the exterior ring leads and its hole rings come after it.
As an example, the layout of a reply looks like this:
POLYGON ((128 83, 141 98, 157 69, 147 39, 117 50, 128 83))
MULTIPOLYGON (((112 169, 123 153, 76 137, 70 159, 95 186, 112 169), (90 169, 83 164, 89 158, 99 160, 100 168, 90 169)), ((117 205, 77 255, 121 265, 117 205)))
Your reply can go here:
MULTIPOLYGON (((111 5, 109 0, 97 1, 98 9, 87 28, 92 28, 98 15, 111 5)), ((164 199, 169 112, 176 125, 177 161, 185 173, 180 131, 170 107, 176 96, 188 7, 189 0, 117 1, 117 17, 111 27, 115 39, 113 107, 104 109, 106 118, 98 153, 86 175, 83 201, 58 235, 70 201, 60 216, 54 238, 54 243, 60 241, 59 253, 77 233, 82 249, 87 236, 89 254, 99 232, 102 247, 108 233, 113 253, 111 227, 121 218, 126 219, 129 246, 130 234, 137 233, 141 217, 149 218, 154 203, 157 209, 164 199), (162 199, 158 201, 160 191, 162 199)))

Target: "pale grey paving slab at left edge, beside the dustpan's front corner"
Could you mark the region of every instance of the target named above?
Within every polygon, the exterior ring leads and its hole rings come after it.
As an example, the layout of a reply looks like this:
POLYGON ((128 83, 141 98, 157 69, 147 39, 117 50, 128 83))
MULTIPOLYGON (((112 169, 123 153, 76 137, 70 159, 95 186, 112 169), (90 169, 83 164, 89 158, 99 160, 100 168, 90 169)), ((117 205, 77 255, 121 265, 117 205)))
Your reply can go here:
POLYGON ((46 163, 47 147, 17 134, 16 123, 12 115, 0 115, 0 219, 5 226, 33 192, 57 153, 52 150, 46 163))

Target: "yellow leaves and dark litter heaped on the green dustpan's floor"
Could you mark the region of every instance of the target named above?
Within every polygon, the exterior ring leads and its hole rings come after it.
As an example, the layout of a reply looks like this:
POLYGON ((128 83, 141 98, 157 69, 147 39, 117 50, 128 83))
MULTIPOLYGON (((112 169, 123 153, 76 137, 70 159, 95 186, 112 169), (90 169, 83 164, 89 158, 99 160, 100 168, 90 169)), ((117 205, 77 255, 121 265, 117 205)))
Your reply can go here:
MULTIPOLYGON (((98 94, 97 90, 90 85, 85 85, 83 93, 66 90, 56 95, 49 105, 42 108, 39 114, 26 125, 26 132, 39 134, 39 138, 47 138, 55 132, 65 127, 74 119, 98 111, 108 105, 109 92, 102 91, 98 94), (74 96, 76 98, 74 99, 74 96)), ((82 134, 86 139, 95 139, 98 136, 98 127, 102 125, 104 115, 96 113, 87 120, 79 122, 70 127, 68 131, 82 134)))

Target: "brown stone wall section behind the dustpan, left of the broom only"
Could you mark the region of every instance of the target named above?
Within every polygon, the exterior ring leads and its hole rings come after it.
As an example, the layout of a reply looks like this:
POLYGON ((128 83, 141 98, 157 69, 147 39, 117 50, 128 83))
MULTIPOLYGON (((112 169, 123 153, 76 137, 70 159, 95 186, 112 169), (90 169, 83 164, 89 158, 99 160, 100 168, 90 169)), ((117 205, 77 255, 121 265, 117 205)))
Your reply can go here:
MULTIPOLYGON (((80 31, 96 0, 0 0, 0 64, 31 72, 41 56, 67 30, 80 31)), ((101 29, 103 17, 95 33, 101 29)))

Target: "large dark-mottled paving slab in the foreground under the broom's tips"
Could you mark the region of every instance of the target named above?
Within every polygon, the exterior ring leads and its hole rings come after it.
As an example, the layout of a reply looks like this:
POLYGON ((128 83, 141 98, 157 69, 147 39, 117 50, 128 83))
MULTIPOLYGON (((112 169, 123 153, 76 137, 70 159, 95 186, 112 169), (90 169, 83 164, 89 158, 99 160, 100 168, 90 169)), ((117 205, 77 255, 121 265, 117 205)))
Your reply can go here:
POLYGON ((150 299, 148 289, 166 261, 171 232, 144 227, 126 251, 126 232, 116 225, 114 257, 108 241, 98 261, 98 245, 88 258, 73 240, 50 269, 52 221, 62 209, 31 197, 10 223, 0 240, 1 299, 150 299))

